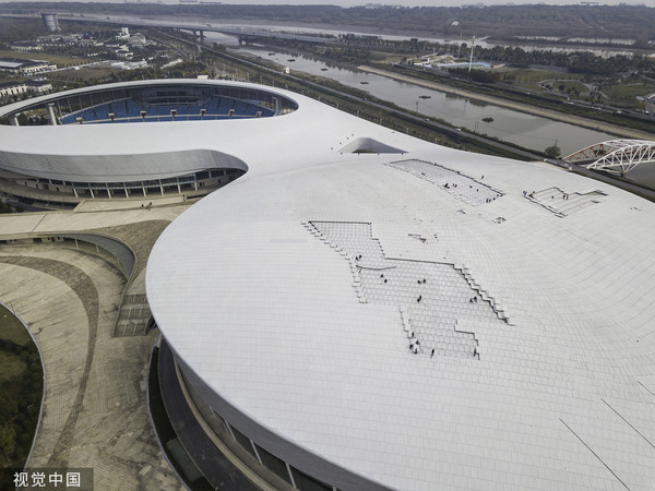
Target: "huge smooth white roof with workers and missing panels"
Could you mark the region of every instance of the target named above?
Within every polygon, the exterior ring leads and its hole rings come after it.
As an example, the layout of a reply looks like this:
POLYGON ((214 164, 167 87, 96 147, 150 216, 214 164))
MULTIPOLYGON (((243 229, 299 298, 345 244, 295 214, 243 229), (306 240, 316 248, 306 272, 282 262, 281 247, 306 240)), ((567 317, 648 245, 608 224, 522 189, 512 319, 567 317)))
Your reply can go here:
POLYGON ((198 125, 249 171, 152 252, 150 304, 178 356, 260 424, 391 488, 650 489, 655 205, 293 97, 283 118, 198 125), (354 139, 407 153, 340 154, 354 139), (496 199, 474 205, 474 189, 496 199), (371 224, 383 258, 331 221, 371 224), (451 274, 481 307, 439 283, 451 274), (475 340, 429 334, 444 312, 475 340))

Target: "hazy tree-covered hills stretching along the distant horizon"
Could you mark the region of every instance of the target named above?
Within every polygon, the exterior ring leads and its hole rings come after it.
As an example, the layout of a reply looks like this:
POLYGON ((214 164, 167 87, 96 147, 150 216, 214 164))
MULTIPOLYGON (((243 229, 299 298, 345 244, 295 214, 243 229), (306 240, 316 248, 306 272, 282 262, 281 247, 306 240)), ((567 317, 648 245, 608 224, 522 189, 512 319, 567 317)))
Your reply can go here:
MULTIPOLYGON (((49 2, 8 2, 1 11, 38 13, 52 9, 49 2)), ((76 14, 170 15, 177 19, 204 17, 221 20, 266 20, 307 24, 376 27, 388 32, 413 32, 433 35, 531 35, 597 37, 598 33, 621 33, 638 38, 643 33, 653 37, 655 9, 640 5, 493 5, 341 8, 336 5, 236 5, 236 4, 158 4, 158 3, 60 3, 58 10, 76 14), (455 23, 455 21, 457 21, 455 23)))

